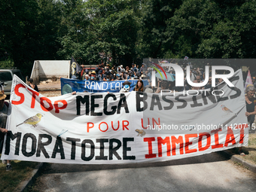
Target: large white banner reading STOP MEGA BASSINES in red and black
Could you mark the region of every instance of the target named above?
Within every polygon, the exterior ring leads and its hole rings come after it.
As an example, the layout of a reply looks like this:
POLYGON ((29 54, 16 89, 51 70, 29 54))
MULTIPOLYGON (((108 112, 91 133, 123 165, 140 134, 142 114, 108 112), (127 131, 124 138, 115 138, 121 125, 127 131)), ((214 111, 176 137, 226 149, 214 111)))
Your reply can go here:
POLYGON ((248 145, 242 71, 235 87, 44 97, 14 77, 2 160, 139 163, 248 145), (218 96, 221 95, 221 96, 218 96))

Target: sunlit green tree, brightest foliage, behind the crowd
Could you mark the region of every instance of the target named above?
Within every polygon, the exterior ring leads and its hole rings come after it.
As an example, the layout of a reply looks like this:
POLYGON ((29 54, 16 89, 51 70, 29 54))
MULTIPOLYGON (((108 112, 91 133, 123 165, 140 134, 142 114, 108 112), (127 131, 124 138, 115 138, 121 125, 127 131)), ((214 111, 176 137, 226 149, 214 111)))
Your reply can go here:
MULTIPOLYGON (((66 1, 69 2, 69 1, 66 1)), ((113 63, 135 56, 137 39, 136 1, 74 1, 75 10, 64 9, 67 33, 59 38, 60 56, 75 56, 82 63, 99 63, 99 53, 111 55, 113 63)), ((69 3, 70 5, 70 3, 69 3)))

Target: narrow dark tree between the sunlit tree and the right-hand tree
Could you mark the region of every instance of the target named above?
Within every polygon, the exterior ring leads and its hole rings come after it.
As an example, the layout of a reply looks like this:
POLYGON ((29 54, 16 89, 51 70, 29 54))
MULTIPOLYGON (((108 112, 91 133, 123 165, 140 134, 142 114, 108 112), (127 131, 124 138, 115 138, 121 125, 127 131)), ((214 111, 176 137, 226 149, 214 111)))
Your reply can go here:
POLYGON ((142 57, 163 57, 169 46, 166 22, 173 17, 182 1, 142 1, 142 26, 138 50, 142 57), (167 32, 167 33, 166 33, 167 32))

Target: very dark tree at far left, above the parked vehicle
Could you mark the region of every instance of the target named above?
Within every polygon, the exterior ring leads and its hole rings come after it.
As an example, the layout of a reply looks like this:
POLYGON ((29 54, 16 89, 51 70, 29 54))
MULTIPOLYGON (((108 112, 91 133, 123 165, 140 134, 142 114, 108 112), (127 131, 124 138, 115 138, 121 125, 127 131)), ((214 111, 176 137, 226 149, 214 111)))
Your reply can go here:
POLYGON ((53 0, 1 0, 0 43, 14 66, 31 73, 35 59, 55 59, 57 14, 53 0), (56 14, 56 15, 55 15, 56 14))

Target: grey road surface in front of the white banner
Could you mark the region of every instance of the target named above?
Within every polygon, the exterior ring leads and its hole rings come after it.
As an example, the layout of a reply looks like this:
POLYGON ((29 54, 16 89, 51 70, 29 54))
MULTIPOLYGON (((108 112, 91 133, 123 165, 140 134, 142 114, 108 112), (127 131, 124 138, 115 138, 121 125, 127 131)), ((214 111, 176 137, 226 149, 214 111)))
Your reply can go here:
POLYGON ((48 163, 36 191, 256 191, 256 175, 220 153, 125 165, 48 163))

